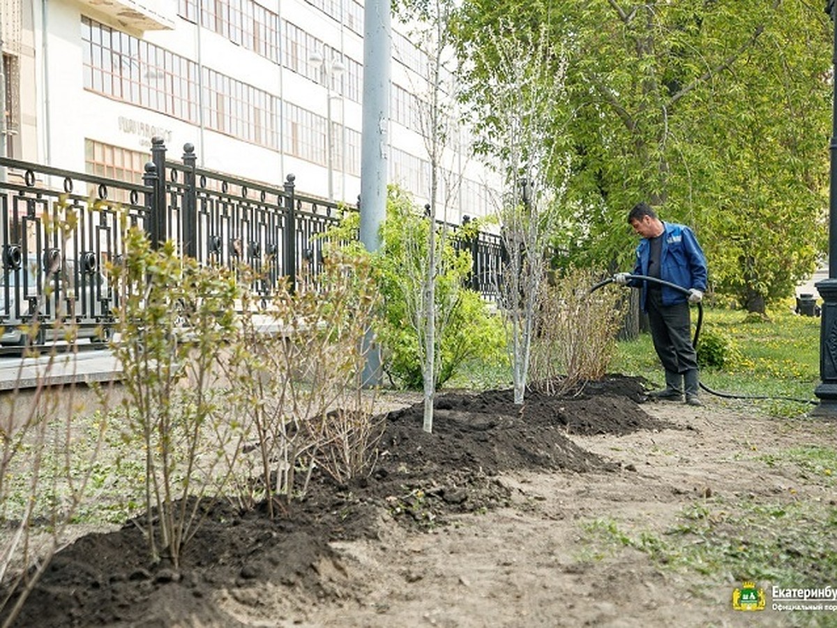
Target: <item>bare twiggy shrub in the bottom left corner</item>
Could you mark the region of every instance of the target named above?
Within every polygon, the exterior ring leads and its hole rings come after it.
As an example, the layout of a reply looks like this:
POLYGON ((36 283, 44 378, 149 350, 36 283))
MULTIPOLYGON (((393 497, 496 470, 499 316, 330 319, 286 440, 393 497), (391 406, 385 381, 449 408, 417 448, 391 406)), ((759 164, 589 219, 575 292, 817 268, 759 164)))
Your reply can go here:
MULTIPOLYGON (((27 329, 26 332, 33 330, 27 329)), ((75 353, 55 347, 37 360, 21 360, 15 387, 0 395, 0 625, 13 625, 23 603, 69 525, 91 501, 91 476, 107 423, 97 414, 81 433, 85 407, 76 395, 75 353), (25 364, 25 367, 24 367, 25 364), (56 376, 69 383, 50 385, 56 376), (33 378, 23 388, 23 378, 33 378)), ((94 394, 105 409, 107 397, 94 394)))

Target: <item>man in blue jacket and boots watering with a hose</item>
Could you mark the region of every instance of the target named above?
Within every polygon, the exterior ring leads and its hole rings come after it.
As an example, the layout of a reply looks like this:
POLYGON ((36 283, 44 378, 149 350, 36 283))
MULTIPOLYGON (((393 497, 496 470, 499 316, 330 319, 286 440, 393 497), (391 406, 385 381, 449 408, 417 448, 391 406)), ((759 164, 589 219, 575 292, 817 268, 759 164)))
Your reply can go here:
POLYGON ((636 247, 633 275, 655 277, 688 291, 686 294, 655 281, 633 279, 629 273, 614 277, 623 286, 642 289, 640 306, 648 313, 654 348, 665 368, 665 389, 649 396, 682 401, 686 392, 687 404, 701 405, 689 304, 699 303, 706 291, 706 257, 691 229, 663 222, 648 203, 634 206, 628 222, 642 236, 636 247))

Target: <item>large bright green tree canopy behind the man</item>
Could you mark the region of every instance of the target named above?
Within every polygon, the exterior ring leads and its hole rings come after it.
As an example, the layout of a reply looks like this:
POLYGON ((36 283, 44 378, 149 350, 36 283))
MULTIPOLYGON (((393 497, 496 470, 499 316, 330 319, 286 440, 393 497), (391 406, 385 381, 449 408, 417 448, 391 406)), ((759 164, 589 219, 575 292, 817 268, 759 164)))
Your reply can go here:
POLYGON ((691 224, 716 291, 763 310, 824 252, 831 23, 802 0, 467 0, 454 23, 466 99, 485 33, 562 42, 567 102, 544 142, 573 153, 564 230, 576 264, 624 266, 639 200, 691 224))

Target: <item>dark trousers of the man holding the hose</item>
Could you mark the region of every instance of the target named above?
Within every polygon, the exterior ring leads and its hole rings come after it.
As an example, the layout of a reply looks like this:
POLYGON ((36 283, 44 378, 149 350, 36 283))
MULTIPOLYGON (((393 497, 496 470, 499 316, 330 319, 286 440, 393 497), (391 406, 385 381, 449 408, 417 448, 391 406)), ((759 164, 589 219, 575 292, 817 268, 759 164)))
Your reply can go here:
POLYGON ((691 317, 687 302, 664 306, 662 291, 649 290, 645 305, 654 348, 670 373, 697 368, 697 353, 691 346, 691 317))

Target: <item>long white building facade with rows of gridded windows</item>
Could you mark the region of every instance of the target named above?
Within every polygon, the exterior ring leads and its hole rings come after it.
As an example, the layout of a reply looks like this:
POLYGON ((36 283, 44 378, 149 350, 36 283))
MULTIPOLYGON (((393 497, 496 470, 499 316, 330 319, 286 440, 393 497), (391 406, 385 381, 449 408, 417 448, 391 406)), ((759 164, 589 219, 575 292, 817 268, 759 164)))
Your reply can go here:
MULTIPOLYGON (((7 157, 141 181, 151 137, 170 158, 357 203, 363 4, 357 0, 3 0, 7 157)), ((388 178, 429 201, 429 59, 393 21, 388 178)), ((445 218, 490 213, 460 128, 445 218), (455 182, 455 183, 451 183, 455 182)), ((439 216, 441 218, 442 216, 439 216)))

